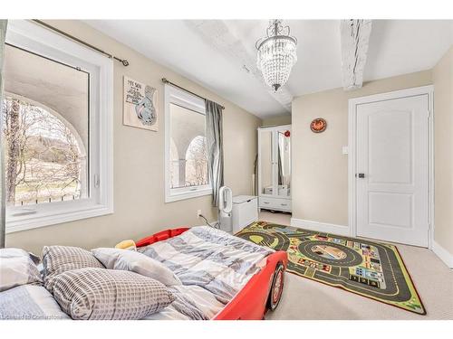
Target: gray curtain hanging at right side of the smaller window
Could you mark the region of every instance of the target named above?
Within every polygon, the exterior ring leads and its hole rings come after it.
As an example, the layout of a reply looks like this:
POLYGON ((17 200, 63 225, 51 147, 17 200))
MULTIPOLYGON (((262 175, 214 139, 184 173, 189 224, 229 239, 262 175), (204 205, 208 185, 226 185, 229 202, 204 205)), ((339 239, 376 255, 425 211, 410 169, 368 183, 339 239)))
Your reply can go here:
POLYGON ((207 172, 212 184, 212 205, 218 206, 218 190, 224 184, 222 107, 209 100, 206 100, 206 139, 207 172))

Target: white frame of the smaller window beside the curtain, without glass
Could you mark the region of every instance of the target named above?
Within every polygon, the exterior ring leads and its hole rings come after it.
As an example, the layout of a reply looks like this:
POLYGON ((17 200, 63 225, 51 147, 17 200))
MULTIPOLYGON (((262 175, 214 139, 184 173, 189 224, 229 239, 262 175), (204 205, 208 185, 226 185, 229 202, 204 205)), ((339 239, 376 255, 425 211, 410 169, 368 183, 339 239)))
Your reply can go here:
MULTIPOLYGON (((188 108, 199 114, 206 115, 205 100, 198 98, 185 90, 178 89, 174 86, 166 84, 165 92, 165 202, 177 202, 179 200, 196 198, 203 195, 212 194, 212 185, 209 184, 171 188, 171 115, 170 104, 175 104, 183 108, 188 108)), ((206 134, 206 133, 205 133, 206 134)), ((206 136, 205 136, 206 137, 206 136)))

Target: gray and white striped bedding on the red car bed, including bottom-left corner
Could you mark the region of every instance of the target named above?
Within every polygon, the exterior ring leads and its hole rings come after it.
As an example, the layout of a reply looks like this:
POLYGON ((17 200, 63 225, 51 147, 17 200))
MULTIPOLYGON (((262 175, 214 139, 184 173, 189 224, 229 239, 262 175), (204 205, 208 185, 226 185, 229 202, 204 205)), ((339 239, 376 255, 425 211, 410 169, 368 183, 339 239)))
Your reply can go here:
MULTIPOLYGON (((157 259, 181 280, 169 287, 172 304, 145 319, 211 319, 246 285, 273 250, 207 226, 139 251, 157 259)), ((70 319, 43 286, 0 293, 0 319, 70 319)))

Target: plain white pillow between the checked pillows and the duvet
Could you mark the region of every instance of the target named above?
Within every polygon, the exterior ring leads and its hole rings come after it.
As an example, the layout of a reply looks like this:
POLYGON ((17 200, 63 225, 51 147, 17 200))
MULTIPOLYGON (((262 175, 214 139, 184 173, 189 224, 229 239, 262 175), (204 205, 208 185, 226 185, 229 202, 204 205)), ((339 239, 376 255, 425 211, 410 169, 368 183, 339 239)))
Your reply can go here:
POLYGON ((169 268, 140 252, 99 248, 92 250, 92 254, 106 268, 129 270, 156 279, 165 286, 182 285, 181 280, 169 268))

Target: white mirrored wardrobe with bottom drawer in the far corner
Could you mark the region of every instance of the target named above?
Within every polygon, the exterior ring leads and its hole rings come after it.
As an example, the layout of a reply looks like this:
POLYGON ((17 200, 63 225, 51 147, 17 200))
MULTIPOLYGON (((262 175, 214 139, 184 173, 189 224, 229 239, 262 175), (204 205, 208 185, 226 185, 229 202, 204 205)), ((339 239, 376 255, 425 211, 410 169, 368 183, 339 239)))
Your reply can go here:
POLYGON ((291 125, 258 128, 259 208, 291 212, 291 125))

